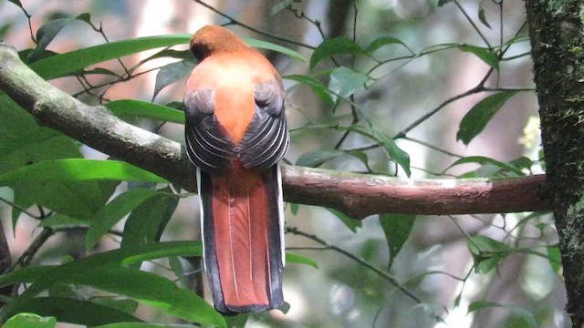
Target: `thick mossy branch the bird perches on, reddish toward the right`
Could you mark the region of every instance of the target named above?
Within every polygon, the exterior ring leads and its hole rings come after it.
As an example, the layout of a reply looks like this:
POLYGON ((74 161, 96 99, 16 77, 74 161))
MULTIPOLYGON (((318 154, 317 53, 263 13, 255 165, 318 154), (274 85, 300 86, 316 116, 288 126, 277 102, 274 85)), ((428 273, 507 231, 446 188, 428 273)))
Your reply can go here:
MULTIPOLYGON (((51 86, 0 43, 0 89, 36 118, 84 144, 196 190, 194 169, 178 143, 134 127, 103 107, 90 107, 51 86)), ((537 198, 544 176, 516 179, 410 180, 283 166, 289 202, 336 208, 354 218, 414 214, 548 210, 537 198)))

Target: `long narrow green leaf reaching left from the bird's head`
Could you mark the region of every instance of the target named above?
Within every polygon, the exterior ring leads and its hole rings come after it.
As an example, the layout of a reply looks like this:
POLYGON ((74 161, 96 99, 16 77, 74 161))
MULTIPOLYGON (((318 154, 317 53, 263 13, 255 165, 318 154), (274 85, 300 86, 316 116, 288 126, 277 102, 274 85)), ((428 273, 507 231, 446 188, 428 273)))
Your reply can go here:
POLYGON ((79 69, 110 59, 136 54, 141 51, 165 46, 188 44, 191 35, 146 36, 130 40, 110 42, 98 46, 50 56, 33 63, 30 67, 44 79, 63 77, 79 69))

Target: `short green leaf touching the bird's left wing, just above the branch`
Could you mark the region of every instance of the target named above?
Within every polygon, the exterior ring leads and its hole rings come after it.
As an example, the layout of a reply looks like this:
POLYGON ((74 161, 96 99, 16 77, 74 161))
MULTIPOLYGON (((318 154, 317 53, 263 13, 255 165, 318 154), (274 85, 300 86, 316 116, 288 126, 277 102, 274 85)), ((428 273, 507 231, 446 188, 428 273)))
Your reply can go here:
POLYGON ((167 106, 152 104, 148 101, 123 99, 116 100, 106 104, 113 115, 117 117, 132 116, 136 118, 151 118, 184 124, 184 112, 167 106))

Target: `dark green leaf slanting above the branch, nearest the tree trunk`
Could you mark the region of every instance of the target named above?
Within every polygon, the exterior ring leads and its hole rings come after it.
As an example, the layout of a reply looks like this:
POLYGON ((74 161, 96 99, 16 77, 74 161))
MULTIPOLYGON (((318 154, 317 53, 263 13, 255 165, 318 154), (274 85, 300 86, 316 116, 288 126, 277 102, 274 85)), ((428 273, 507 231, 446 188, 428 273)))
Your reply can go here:
POLYGON ((515 96, 516 93, 516 90, 503 91, 479 101, 461 120, 456 140, 462 140, 464 145, 468 145, 474 137, 485 129, 486 124, 505 105, 506 101, 515 96))

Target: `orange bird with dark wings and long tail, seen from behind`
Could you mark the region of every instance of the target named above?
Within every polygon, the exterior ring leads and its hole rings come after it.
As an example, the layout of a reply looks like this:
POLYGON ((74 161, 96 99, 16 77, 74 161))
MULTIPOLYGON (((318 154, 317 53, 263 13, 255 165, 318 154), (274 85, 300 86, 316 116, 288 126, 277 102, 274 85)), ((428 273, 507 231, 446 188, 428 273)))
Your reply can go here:
POLYGON ((265 56, 221 26, 193 35, 199 59, 184 93, 185 138, 197 167, 204 263, 215 308, 280 307, 282 182, 289 134, 284 87, 265 56))

